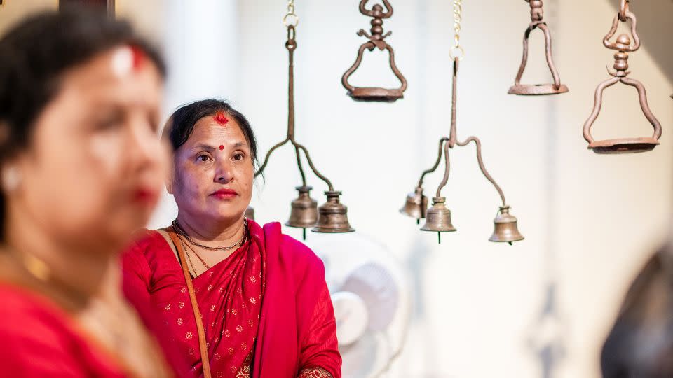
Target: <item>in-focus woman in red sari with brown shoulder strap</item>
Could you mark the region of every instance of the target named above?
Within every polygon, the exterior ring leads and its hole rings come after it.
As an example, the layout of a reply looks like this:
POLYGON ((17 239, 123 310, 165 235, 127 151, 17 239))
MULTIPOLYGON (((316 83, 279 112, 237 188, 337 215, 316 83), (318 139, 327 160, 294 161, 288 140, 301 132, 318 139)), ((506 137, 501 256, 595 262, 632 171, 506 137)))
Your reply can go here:
POLYGON ((178 215, 125 253, 130 302, 163 318, 191 377, 341 377, 322 262, 279 223, 244 216, 257 155, 245 117, 225 102, 194 102, 164 135, 178 215))

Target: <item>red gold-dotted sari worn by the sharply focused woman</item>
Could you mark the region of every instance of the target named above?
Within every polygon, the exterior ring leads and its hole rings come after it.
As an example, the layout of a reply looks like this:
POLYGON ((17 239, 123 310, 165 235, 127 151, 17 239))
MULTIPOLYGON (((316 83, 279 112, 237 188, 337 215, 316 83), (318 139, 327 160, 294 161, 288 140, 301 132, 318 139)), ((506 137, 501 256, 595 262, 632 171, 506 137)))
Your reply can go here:
MULTIPOLYGON (((193 279, 212 377, 341 377, 334 309, 322 261, 280 232, 248 224, 250 239, 193 279)), ((182 268, 164 237, 144 235, 123 256, 124 292, 151 303, 182 352, 186 377, 203 376, 182 268)), ((147 321, 151 321, 148 319, 147 321)))

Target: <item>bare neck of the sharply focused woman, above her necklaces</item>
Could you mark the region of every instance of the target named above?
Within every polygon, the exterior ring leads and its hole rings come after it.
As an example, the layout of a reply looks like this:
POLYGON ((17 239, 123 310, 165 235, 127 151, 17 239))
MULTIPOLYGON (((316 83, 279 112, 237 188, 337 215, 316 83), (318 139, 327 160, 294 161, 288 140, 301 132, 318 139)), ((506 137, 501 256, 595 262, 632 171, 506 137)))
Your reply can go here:
POLYGON ((177 214, 177 223, 191 239, 203 242, 203 244, 208 246, 234 244, 245 235, 243 216, 233 222, 212 222, 206 217, 191 216, 179 211, 177 214))

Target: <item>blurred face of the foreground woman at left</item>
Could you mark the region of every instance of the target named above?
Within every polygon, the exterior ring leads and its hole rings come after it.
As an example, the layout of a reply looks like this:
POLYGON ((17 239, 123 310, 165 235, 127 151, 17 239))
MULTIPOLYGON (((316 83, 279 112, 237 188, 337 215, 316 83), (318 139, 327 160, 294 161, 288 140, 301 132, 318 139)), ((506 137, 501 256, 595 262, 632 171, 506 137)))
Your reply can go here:
POLYGON ((149 220, 167 172, 162 89, 154 63, 132 47, 67 71, 12 161, 22 179, 9 201, 21 216, 70 243, 128 241, 149 220))

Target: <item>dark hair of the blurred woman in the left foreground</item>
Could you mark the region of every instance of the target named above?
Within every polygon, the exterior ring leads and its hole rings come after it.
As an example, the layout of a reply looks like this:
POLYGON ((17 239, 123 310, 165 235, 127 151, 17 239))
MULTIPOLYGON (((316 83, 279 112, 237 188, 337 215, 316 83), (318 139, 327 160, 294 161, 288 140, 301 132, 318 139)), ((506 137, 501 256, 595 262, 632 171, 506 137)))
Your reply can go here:
MULTIPOLYGON (((63 7, 26 18, 0 38, 0 164, 25 148, 34 123, 57 94, 64 73, 119 45, 142 50, 165 76, 163 59, 128 22, 63 7)), ((0 237, 4 228, 0 195, 0 237)))

